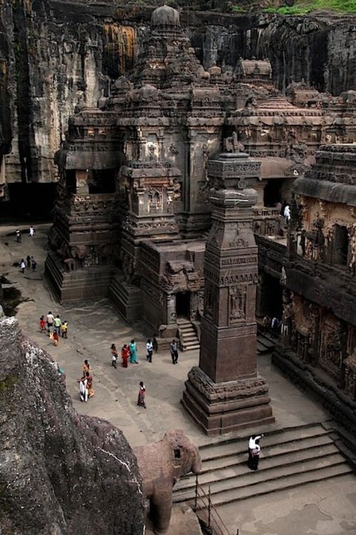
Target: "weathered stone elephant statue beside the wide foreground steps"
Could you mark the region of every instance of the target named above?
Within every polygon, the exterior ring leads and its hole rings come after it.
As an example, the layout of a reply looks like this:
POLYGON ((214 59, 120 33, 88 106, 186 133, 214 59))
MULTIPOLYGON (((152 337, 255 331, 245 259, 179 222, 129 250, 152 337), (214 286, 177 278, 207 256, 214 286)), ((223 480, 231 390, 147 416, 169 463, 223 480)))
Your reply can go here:
POLYGON ((142 477, 142 490, 150 499, 155 534, 167 533, 172 512, 172 488, 179 477, 201 470, 199 449, 182 429, 171 429, 162 440, 133 448, 142 477))

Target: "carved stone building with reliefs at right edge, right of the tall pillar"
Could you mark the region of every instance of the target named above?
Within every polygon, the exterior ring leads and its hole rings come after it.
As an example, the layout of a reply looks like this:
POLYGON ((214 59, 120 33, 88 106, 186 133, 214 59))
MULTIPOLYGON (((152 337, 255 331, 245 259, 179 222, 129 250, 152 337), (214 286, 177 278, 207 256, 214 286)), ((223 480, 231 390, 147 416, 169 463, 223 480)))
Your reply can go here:
MULTIPOLYGON (((308 370, 309 386, 324 385, 325 396, 330 389, 339 399, 333 410, 345 419, 344 394, 355 401, 356 146, 321 146, 315 156, 294 183, 298 210, 285 267, 290 336, 274 362, 298 381, 298 370, 308 370)), ((356 428, 356 405, 353 411, 356 428)))

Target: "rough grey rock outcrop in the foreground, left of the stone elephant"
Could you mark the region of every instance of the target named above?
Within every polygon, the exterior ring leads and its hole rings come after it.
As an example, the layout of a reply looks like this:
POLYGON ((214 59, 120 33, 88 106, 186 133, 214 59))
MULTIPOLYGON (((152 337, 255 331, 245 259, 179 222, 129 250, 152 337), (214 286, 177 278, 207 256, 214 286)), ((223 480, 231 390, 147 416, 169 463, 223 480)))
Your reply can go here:
POLYGON ((56 363, 14 318, 0 320, 0 415, 1 534, 142 534, 125 437, 75 412, 56 363))

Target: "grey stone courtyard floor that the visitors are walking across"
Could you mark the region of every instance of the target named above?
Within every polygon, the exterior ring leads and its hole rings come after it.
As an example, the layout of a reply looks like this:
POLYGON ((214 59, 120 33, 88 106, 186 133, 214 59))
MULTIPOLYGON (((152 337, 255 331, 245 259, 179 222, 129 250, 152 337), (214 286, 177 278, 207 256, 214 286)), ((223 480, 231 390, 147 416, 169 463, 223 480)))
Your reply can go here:
MULTIPOLYGON (((0 275, 11 282, 5 288, 16 287, 23 299, 28 299, 18 306, 16 317, 23 332, 65 370, 67 389, 78 412, 110 420, 122 429, 131 446, 156 441, 172 428, 184 429, 197 445, 218 441, 219 437, 207 438, 180 404, 184 381, 191 367, 198 364, 199 352, 180 352, 177 366, 172 365, 169 352, 159 352, 150 364, 145 359, 145 342, 152 332, 142 324, 127 325, 108 300, 58 305, 43 280, 48 228, 49 225, 38 225, 35 238, 24 233, 22 243, 18 244, 16 227, 2 225, 0 275), (12 264, 27 255, 36 258, 38 270, 26 270, 22 275, 19 267, 12 264), (49 310, 69 322, 68 340, 60 340, 58 347, 38 327, 39 317, 49 310), (115 342, 120 350, 132 338, 137 341, 139 364, 124 369, 119 359, 115 370, 111 366, 110 345, 115 342), (95 397, 87 404, 79 400, 77 382, 85 358, 93 368, 95 388, 95 397), (141 380, 147 387, 146 410, 136 405, 141 380)), ((258 357, 258 367, 268 380, 276 418, 275 424, 258 431, 330 419, 318 404, 271 367, 268 355, 258 357)), ((245 429, 230 437, 246 434, 245 429)), ((219 513, 231 535, 236 534, 237 528, 240 535, 356 535, 355 504, 356 478, 350 474, 238 501, 222 506, 219 513)))

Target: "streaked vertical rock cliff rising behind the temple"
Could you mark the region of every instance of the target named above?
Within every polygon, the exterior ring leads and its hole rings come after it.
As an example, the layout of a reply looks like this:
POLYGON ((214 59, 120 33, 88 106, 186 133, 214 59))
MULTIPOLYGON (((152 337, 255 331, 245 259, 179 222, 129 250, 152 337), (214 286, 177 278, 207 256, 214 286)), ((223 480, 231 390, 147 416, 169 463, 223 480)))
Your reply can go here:
MULTIPOLYGON (((8 182, 57 179, 53 155, 68 116, 80 103, 96 105, 102 93, 110 92, 110 81, 132 67, 151 11, 118 9, 112 0, 2 1, 0 66, 7 77, 0 82, 7 140, 3 151, 9 149, 12 128, 8 182)), ((355 19, 204 11, 181 16, 205 68, 215 63, 234 68, 240 56, 268 57, 281 90, 290 79, 305 78, 333 94, 356 85, 355 19)))

